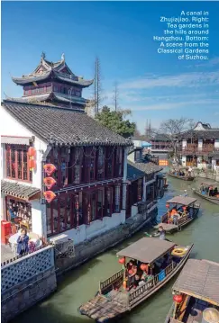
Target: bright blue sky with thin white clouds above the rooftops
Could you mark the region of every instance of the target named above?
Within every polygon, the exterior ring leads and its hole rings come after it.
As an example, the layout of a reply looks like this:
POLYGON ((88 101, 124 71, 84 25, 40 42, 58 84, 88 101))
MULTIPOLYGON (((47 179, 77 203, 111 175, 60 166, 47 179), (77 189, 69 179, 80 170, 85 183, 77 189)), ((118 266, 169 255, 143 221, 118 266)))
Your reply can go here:
POLYGON ((219 127, 218 12, 218 2, 3 2, 2 97, 22 95, 11 76, 31 73, 41 51, 52 61, 64 52, 72 71, 88 79, 98 55, 105 103, 112 104, 118 82, 119 105, 132 110, 141 131, 147 119, 159 127, 160 121, 181 116, 219 127), (152 38, 162 35, 160 16, 178 16, 181 10, 209 11, 209 60, 157 53, 152 38))

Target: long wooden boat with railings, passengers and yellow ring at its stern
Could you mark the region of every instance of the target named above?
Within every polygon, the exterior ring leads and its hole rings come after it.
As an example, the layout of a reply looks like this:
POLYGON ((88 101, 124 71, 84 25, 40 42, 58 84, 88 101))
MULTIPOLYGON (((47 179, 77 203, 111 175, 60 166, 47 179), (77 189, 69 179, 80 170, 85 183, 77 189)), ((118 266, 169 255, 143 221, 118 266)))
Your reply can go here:
POLYGON ((158 292, 178 273, 185 265, 192 247, 193 245, 180 247, 173 242, 159 238, 141 238, 117 253, 117 256, 122 257, 119 262, 123 264, 123 269, 104 282, 100 282, 96 296, 81 305, 78 309, 79 312, 101 323, 119 318, 130 312, 153 293, 158 292), (177 253, 177 250, 183 250, 181 255, 177 253), (169 263, 166 263, 165 268, 160 269, 157 274, 155 268, 167 255, 169 255, 169 263), (136 289, 133 288, 130 278, 127 277, 127 270, 125 269, 127 258, 135 260, 138 265, 147 264, 147 267, 151 268, 150 273, 148 272, 150 276, 145 281, 141 281, 136 289), (126 284, 130 286, 129 291, 127 291, 126 284))

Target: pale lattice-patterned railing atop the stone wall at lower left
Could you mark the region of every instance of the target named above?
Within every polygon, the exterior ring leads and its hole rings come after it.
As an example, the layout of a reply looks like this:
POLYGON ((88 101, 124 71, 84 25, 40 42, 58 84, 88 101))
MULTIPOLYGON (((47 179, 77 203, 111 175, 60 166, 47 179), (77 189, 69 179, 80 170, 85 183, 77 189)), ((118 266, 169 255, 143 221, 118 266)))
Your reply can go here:
POLYGON ((48 246, 23 256, 1 267, 1 292, 7 292, 17 285, 43 274, 54 267, 54 247, 48 246))

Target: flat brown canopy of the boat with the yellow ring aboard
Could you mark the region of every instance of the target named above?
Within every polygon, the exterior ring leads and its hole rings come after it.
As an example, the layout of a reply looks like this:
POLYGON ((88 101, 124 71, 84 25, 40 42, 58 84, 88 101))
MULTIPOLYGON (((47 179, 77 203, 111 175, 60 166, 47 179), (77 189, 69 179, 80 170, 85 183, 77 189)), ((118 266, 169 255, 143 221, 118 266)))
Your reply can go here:
POLYGON ((174 243, 159 238, 141 238, 131 246, 119 251, 117 256, 127 256, 142 263, 152 264, 174 246, 174 243))

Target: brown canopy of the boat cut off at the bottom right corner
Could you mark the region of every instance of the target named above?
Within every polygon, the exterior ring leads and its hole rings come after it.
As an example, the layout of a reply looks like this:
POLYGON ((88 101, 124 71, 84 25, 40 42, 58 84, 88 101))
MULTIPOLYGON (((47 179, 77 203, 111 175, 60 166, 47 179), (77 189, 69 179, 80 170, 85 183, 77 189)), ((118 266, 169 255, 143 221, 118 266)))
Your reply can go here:
POLYGON ((219 264, 188 259, 173 285, 173 291, 219 306, 219 264))

